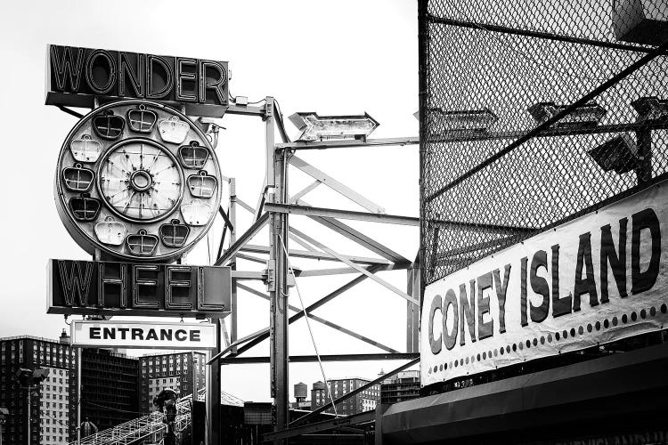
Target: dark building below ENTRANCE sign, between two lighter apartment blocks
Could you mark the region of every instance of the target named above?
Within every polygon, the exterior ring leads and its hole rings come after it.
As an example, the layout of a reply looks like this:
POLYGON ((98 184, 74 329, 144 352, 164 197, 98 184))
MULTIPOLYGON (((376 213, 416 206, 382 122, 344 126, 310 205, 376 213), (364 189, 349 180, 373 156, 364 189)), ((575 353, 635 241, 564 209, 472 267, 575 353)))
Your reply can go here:
POLYGON ((86 348, 81 355, 81 418, 100 431, 137 417, 139 360, 106 349, 86 348))

